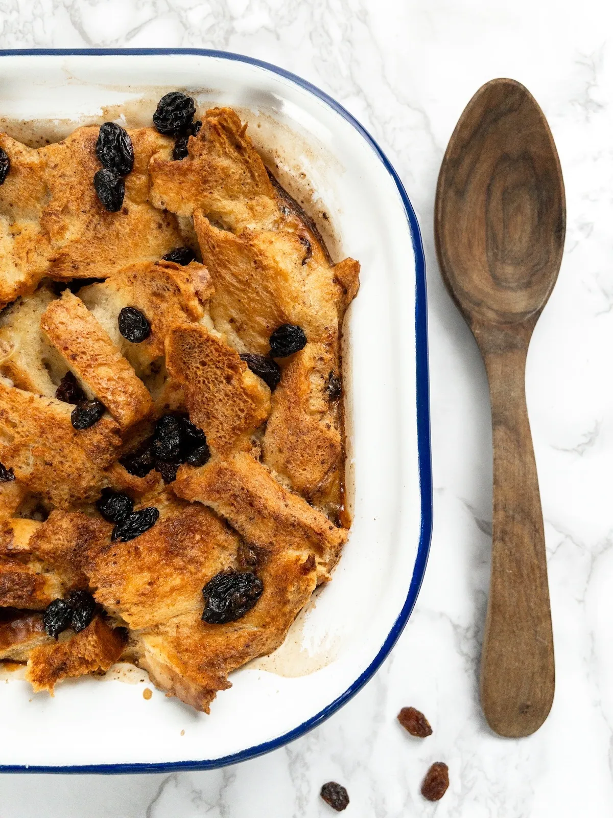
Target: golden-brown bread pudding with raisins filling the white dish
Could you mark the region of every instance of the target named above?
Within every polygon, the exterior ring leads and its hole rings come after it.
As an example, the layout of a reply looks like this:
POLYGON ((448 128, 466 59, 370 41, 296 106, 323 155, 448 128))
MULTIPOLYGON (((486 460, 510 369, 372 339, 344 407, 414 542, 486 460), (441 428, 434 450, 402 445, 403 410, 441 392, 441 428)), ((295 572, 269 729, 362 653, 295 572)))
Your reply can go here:
POLYGON ((334 264, 230 109, 0 135, 0 660, 208 712, 347 541, 334 264))

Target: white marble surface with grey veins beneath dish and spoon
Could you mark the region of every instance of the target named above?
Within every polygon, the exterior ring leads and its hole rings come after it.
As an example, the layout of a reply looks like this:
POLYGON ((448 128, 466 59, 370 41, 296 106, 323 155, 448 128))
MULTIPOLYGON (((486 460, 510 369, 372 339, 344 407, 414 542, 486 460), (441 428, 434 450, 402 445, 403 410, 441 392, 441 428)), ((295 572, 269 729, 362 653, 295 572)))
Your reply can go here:
MULTIPOLYGON (((613 44, 606 0, 0 0, 0 47, 213 47, 310 79, 396 164, 427 253, 435 528, 396 649, 318 730, 223 771, 0 776, 2 818, 312 818, 347 785, 353 816, 549 818, 613 809, 613 44), (521 80, 566 179, 566 254, 530 347, 527 394, 543 498, 557 693, 530 739, 486 728, 477 670, 490 553, 491 447, 477 348, 441 285, 432 206, 463 106, 521 80), (414 704, 423 742, 397 726, 414 704), (450 766, 438 805, 419 785, 450 766)), ((1 739, 0 739, 1 740, 1 739)))

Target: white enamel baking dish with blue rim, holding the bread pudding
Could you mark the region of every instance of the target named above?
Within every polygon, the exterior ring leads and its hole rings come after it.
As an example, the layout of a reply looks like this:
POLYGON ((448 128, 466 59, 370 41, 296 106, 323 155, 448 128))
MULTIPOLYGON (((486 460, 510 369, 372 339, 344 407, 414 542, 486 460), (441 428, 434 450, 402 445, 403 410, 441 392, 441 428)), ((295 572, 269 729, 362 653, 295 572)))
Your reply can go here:
POLYGON ((13 674, 0 685, 2 771, 208 768, 280 747, 369 680, 423 579, 432 529, 423 249, 399 178, 360 124, 273 65, 144 49, 0 52, 0 128, 20 137, 30 127, 20 120, 52 119, 45 133, 60 138, 122 110, 128 125, 150 124, 155 102, 173 88, 201 106, 238 108, 267 164, 315 217, 334 260, 360 260, 360 293, 344 332, 351 535, 333 582, 279 654, 232 674, 210 716, 157 690, 145 700, 153 685, 141 672, 65 682, 55 698, 33 694, 13 674))

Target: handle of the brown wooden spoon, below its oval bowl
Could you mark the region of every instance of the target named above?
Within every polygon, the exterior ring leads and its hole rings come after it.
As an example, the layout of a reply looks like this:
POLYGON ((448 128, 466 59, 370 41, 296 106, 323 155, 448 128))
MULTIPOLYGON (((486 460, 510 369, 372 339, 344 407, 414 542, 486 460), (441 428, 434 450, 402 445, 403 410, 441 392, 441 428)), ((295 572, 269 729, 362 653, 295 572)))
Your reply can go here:
POLYGON ((543 512, 526 408, 528 341, 529 335, 516 336, 515 344, 482 349, 492 408, 494 511, 481 706, 492 730, 509 738, 539 729, 555 687, 543 512))

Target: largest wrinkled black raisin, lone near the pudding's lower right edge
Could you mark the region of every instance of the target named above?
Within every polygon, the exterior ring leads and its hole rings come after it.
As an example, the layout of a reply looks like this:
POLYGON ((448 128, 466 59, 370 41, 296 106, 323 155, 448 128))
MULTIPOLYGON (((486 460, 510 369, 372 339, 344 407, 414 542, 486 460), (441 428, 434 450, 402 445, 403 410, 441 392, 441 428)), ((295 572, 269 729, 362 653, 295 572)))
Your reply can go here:
POLYGON ((253 608, 263 590, 262 580, 250 571, 221 571, 202 589, 202 618, 209 625, 235 622, 253 608))

